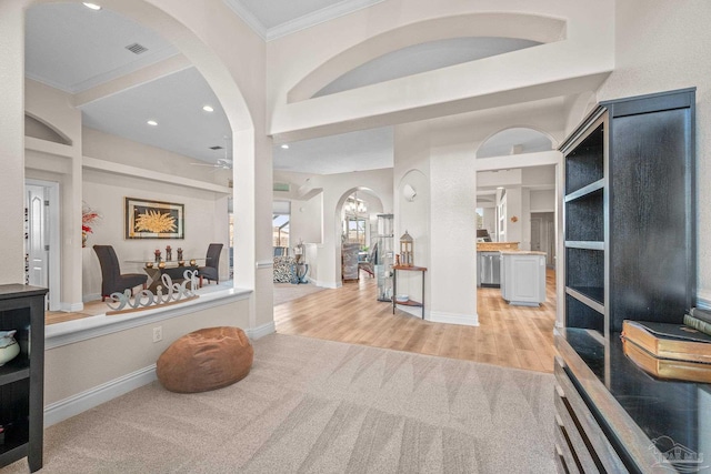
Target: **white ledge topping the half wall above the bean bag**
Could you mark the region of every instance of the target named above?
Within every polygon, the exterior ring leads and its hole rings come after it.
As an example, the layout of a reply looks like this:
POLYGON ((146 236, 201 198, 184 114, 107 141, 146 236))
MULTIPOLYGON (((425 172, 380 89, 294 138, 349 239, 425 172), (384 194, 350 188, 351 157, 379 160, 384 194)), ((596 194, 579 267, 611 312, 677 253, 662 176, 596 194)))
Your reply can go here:
POLYGON ((171 306, 153 306, 146 311, 116 314, 107 316, 82 317, 80 320, 50 324, 44 329, 44 349, 50 350, 80 341, 99 337, 131 327, 153 324, 172 317, 194 313, 210 307, 222 306, 236 301, 246 300, 252 293, 251 290, 228 289, 200 294, 196 300, 186 301, 182 304, 171 306))

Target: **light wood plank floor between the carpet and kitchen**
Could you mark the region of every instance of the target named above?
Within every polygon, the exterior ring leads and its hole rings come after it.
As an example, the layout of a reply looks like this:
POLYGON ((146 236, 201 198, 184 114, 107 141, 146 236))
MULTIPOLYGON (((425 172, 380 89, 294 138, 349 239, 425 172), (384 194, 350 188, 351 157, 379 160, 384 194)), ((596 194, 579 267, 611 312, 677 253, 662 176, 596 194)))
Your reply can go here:
POLYGON ((499 289, 478 290, 479 326, 433 323, 375 299, 375 280, 361 274, 274 307, 277 332, 485 362, 540 372, 553 370, 555 273, 547 272, 539 307, 510 306, 499 289))

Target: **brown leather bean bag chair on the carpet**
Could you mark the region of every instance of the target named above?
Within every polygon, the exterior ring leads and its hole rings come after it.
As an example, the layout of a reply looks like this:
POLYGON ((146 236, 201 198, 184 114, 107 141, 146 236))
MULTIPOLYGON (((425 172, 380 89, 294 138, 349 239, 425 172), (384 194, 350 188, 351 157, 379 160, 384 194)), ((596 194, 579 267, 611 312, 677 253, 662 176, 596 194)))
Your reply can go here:
POLYGON ((173 342, 156 363, 158 380, 171 392, 221 389, 249 373, 254 350, 239 327, 206 327, 173 342))

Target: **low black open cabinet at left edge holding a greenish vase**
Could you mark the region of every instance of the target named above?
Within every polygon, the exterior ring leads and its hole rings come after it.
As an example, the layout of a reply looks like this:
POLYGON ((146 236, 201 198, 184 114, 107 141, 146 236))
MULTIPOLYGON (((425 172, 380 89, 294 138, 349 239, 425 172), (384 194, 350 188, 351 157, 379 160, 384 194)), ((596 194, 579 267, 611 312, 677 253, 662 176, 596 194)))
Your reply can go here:
POLYGON ((30 471, 42 467, 44 430, 46 289, 0 285, 0 330, 17 330, 20 354, 0 366, 0 467, 28 457, 30 471))

